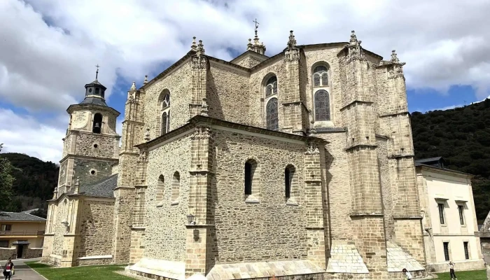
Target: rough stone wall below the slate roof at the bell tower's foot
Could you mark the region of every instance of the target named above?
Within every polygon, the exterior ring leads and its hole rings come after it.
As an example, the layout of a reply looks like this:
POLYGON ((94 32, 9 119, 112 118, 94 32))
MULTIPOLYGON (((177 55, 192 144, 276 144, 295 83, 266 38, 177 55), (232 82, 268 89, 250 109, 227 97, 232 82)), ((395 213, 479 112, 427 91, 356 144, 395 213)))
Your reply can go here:
POLYGON ((114 202, 83 201, 78 257, 112 254, 113 211, 114 202))

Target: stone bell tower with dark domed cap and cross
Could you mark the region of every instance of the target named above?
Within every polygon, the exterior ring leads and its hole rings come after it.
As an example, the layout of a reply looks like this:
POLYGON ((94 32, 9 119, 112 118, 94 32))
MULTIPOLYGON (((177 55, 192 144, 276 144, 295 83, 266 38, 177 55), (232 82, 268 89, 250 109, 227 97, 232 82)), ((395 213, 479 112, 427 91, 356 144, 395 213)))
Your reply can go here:
POLYGON ((81 185, 97 182, 112 174, 118 164, 119 139, 116 133, 118 111, 107 106, 106 87, 97 80, 85 85, 85 99, 66 109, 70 122, 63 139, 63 155, 59 161, 57 197, 81 185))

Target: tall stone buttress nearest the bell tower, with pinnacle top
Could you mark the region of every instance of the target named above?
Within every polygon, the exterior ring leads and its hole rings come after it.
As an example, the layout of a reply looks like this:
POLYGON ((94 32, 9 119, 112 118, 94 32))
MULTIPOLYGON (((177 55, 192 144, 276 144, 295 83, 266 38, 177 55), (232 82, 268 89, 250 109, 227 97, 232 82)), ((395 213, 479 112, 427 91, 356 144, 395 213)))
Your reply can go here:
MULTIPOLYGON (((146 80, 145 80, 146 83, 146 80)), ((113 258, 115 263, 130 262, 132 223, 134 203, 137 197, 139 149, 134 147, 144 139, 144 90, 133 85, 127 92, 125 120, 123 121, 123 142, 119 155, 118 187, 114 190, 114 241, 113 258)), ((141 188, 139 188, 141 190, 141 188)), ((137 229, 138 230, 138 229, 137 229)))

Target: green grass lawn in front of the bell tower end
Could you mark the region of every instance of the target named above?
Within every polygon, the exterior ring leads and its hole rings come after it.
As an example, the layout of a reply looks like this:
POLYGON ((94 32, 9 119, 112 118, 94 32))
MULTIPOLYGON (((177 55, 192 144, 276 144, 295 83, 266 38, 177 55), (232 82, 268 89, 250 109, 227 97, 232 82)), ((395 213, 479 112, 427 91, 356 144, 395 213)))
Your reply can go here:
POLYGON ((122 265, 94 265, 87 267, 52 268, 39 262, 26 262, 32 269, 39 272, 49 280, 78 280, 78 279, 117 279, 134 280, 134 278, 117 274, 116 271, 123 270, 122 265))

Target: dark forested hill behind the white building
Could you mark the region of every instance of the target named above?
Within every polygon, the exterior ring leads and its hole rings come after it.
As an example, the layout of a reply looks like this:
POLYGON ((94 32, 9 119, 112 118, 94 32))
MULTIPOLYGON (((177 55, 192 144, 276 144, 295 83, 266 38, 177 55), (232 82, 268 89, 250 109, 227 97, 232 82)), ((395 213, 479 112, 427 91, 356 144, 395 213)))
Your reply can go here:
POLYGON ((490 211, 490 99, 445 111, 412 113, 416 159, 442 156, 446 168, 475 175, 479 223, 490 211))

